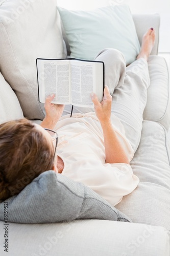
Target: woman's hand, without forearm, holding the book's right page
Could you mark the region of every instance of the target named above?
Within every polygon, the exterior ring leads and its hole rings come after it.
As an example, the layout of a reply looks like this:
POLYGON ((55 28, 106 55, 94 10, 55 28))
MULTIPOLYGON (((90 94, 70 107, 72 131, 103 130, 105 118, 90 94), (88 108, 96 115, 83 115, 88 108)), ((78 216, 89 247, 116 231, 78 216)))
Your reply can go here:
POLYGON ((99 99, 95 93, 91 93, 90 96, 94 104, 95 114, 98 117, 99 121, 101 123, 107 121, 110 122, 112 96, 110 95, 109 88, 105 86, 102 102, 99 102, 99 99))

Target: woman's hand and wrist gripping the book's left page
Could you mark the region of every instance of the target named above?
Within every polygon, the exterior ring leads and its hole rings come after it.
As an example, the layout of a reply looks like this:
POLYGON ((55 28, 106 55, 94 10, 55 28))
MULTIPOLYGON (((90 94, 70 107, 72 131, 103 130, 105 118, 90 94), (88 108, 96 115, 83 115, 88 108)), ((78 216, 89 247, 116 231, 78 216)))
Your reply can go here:
POLYGON ((40 124, 42 127, 48 128, 51 130, 54 129, 56 123, 62 116, 62 113, 64 110, 64 105, 51 103, 54 97, 55 95, 52 94, 45 99, 44 107, 45 107, 46 116, 40 124))

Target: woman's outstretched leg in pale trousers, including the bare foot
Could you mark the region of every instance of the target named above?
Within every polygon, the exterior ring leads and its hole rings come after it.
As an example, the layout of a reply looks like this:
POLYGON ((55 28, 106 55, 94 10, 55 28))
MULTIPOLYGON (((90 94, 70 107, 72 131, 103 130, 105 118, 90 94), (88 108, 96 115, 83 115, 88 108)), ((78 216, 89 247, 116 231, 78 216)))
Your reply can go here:
POLYGON ((143 110, 147 102, 150 77, 147 59, 155 42, 155 31, 149 29, 143 36, 137 60, 126 68, 124 84, 114 90, 112 113, 125 127, 126 136, 136 151, 142 129, 143 110))

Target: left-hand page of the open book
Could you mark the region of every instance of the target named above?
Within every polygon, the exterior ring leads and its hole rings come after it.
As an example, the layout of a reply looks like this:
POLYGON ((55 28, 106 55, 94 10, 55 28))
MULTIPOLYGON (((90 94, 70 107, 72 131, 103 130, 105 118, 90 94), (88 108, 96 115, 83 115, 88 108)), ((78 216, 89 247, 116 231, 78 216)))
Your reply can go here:
POLYGON ((38 87, 40 102, 48 95, 55 94, 52 103, 70 103, 69 60, 38 59, 38 87))

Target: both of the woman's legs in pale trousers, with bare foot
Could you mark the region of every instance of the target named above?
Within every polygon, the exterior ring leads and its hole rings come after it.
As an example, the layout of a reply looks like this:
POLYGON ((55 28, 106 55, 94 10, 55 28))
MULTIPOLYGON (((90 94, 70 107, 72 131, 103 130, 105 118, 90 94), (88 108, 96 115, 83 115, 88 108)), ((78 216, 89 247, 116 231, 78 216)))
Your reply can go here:
POLYGON ((96 57, 105 62, 105 84, 109 87, 112 113, 125 127, 125 133, 136 151, 142 129, 143 110, 147 102, 150 77, 147 59, 155 42, 155 31, 149 29, 143 36, 141 51, 127 68, 123 54, 106 49, 96 57))

